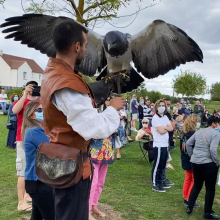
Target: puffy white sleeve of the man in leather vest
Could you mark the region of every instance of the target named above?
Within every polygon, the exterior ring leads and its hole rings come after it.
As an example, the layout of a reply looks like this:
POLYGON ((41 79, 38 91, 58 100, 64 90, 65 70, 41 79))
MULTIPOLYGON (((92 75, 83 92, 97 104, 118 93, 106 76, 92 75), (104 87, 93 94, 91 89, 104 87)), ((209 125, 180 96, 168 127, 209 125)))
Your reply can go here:
POLYGON ((67 123, 73 130, 85 140, 109 137, 119 126, 120 118, 115 108, 109 106, 98 113, 87 94, 64 88, 54 92, 52 102, 67 117, 67 123))

